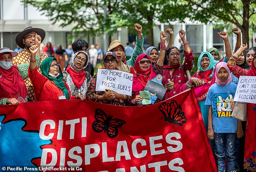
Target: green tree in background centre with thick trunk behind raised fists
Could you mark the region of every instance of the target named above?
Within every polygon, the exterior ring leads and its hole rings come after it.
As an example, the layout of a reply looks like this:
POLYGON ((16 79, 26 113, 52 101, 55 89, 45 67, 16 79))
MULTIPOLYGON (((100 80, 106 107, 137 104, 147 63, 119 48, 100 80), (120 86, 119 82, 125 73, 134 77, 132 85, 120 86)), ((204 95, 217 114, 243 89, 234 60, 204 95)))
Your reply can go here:
POLYGON ((123 0, 119 9, 109 15, 109 18, 120 27, 131 28, 133 23, 141 24, 143 34, 148 35, 149 46, 154 46, 154 21, 183 21, 188 15, 188 4, 185 0, 123 0))

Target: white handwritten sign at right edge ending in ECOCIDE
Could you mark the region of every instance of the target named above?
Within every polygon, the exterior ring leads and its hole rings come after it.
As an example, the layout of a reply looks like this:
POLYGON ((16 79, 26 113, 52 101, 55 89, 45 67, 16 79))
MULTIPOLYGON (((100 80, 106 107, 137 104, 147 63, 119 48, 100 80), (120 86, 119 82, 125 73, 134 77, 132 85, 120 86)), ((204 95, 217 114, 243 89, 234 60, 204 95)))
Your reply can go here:
POLYGON ((234 101, 256 104, 256 77, 239 77, 234 101))

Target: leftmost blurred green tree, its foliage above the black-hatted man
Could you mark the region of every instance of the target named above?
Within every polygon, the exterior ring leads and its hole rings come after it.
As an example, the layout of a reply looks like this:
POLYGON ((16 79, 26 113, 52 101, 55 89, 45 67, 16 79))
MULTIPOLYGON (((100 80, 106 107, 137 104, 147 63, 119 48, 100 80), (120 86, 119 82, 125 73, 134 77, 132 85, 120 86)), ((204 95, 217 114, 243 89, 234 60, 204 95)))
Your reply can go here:
POLYGON ((75 35, 100 34, 106 30, 111 35, 118 28, 108 15, 117 10, 120 0, 24 0, 24 3, 37 7, 53 23, 60 21, 62 27, 74 25, 75 35))

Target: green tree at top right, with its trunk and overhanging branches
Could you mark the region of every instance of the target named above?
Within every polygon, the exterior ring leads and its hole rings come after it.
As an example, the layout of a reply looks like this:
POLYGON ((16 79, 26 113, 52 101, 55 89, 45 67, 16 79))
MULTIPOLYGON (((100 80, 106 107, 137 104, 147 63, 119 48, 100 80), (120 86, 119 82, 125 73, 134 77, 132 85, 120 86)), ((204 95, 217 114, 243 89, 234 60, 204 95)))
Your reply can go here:
POLYGON ((232 23, 241 29, 243 44, 249 43, 249 27, 255 31, 256 0, 187 0, 191 20, 232 23))

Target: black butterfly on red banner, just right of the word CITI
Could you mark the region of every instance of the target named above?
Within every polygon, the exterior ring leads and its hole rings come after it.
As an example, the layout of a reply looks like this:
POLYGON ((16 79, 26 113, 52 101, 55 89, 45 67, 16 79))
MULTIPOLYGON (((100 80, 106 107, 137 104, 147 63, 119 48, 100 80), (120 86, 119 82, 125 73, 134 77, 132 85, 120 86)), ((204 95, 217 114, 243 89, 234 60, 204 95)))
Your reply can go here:
POLYGON ((103 110, 96 109, 94 115, 95 121, 92 123, 92 130, 100 133, 104 130, 104 133, 107 132, 108 137, 111 139, 117 137, 118 127, 126 124, 124 120, 113 118, 112 115, 107 115, 103 110))

